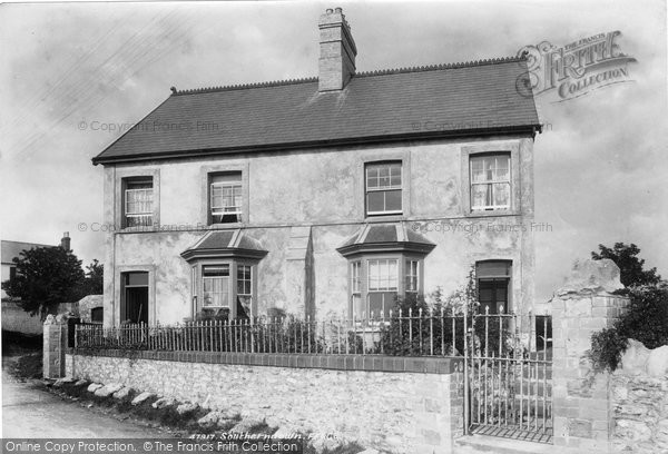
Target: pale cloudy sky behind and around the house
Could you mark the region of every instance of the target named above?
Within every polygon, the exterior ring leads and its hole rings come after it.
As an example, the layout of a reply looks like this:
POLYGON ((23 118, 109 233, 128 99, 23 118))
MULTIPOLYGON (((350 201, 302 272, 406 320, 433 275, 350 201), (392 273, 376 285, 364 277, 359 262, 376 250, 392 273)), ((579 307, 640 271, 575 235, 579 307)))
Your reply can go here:
POLYGON ((317 19, 342 7, 358 71, 515 56, 619 30, 627 81, 537 96, 537 298, 599 244, 635 243, 668 277, 666 3, 434 1, 0 6, 0 236, 104 258, 90 159, 178 89, 317 75, 317 19))

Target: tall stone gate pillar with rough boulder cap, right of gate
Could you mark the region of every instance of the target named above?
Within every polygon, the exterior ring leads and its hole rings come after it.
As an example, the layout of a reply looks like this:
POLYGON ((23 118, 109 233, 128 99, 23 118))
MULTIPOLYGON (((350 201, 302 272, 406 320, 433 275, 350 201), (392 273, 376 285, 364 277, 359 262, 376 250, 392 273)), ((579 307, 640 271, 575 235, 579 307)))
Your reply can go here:
POLYGON ((610 451, 613 424, 609 374, 593 374, 587 351, 591 335, 610 327, 628 298, 612 260, 577 261, 552 306, 554 445, 580 452, 610 451))

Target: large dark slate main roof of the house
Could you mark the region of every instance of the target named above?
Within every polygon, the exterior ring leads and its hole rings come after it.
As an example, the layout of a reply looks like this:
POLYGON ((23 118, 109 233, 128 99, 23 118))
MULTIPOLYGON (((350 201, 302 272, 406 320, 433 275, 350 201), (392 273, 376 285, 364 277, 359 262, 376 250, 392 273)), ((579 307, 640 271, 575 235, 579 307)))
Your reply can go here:
POLYGON ((362 72, 342 91, 317 78, 173 95, 94 164, 540 130, 520 58, 362 72), (520 88, 518 88, 520 87, 520 88))

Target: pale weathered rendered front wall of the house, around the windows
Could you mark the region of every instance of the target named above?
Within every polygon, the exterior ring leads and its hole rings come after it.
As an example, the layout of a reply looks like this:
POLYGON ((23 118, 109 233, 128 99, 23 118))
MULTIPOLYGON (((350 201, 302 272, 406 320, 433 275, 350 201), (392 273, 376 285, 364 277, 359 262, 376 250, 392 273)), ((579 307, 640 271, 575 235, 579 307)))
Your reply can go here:
POLYGON ((403 220, 436 245, 424 260, 424 292, 440 286, 448 294, 462 286, 475 260, 510 259, 511 304, 525 310, 533 304, 532 147, 530 137, 498 137, 107 166, 105 226, 115 231, 106 239, 105 314, 114 316, 105 323, 120 322, 119 273, 132 269, 153 273, 149 323, 176 323, 191 315, 190 267, 179 254, 207 231, 203 168, 246 172, 248 213, 240 227, 268 251, 257 269, 257 313, 281 307, 303 315, 310 304, 317 317, 343 313, 347 261, 336 248, 365 221, 376 220, 364 216, 364 162, 383 159, 403 161, 404 214, 379 220, 403 220), (470 215, 465 157, 471 148, 514 150, 513 210, 470 215), (159 181, 154 220, 163 231, 120 229, 120 181, 134 175, 154 175, 159 181), (302 249, 291 238, 303 227, 311 227, 312 257, 304 258, 304 266, 291 265, 295 250, 302 249), (304 300, 307 288, 313 302, 304 300))

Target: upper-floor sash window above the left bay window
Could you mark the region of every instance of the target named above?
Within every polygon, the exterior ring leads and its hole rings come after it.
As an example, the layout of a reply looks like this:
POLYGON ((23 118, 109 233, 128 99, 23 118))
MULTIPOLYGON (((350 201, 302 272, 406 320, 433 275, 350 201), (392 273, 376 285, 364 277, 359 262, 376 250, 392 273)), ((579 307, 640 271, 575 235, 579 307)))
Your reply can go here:
POLYGON ((243 214, 242 172, 209 176, 209 214, 212 224, 240 223, 243 214))

